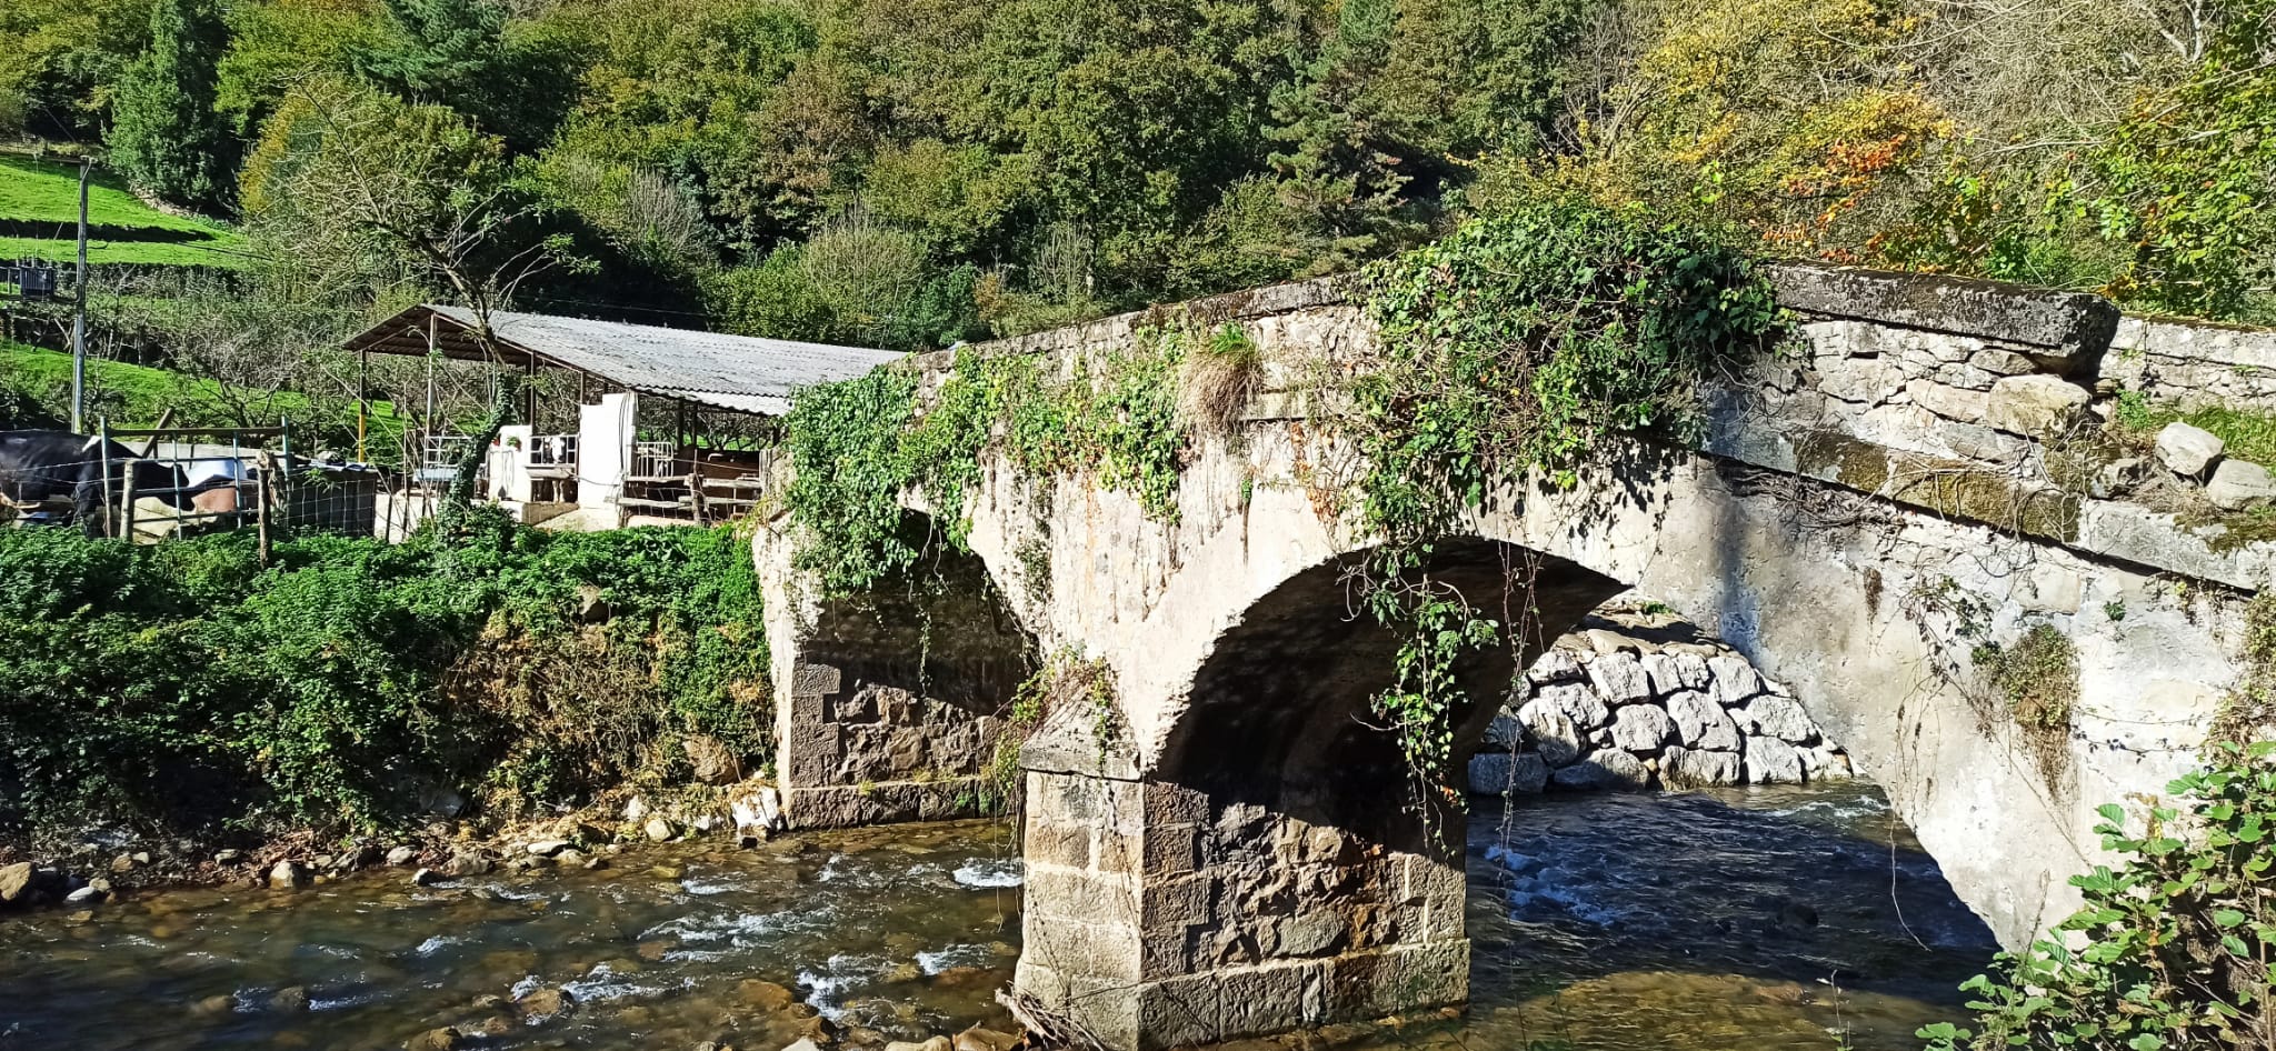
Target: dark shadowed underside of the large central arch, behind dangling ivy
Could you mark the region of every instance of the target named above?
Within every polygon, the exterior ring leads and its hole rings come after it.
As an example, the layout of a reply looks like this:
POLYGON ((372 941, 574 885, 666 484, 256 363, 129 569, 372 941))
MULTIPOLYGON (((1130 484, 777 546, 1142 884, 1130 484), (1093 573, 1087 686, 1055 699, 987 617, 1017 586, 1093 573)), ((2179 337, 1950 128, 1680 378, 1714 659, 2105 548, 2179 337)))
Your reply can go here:
MULTIPOLYGON (((1356 605, 1354 566, 1372 551, 1316 564, 1275 587, 1218 637, 1156 778, 1206 792, 1222 810, 1252 803, 1334 826, 1395 851, 1432 851, 1416 821, 1397 735, 1372 698, 1397 680, 1402 635, 1356 605)), ((1502 642, 1454 664, 1459 771, 1493 721, 1511 676, 1625 582, 1577 562, 1484 537, 1432 544, 1422 573, 1502 626, 1502 642)), ((1441 814, 1443 817, 1443 814, 1441 814)), ((1452 842, 1461 837, 1454 835, 1452 842)))

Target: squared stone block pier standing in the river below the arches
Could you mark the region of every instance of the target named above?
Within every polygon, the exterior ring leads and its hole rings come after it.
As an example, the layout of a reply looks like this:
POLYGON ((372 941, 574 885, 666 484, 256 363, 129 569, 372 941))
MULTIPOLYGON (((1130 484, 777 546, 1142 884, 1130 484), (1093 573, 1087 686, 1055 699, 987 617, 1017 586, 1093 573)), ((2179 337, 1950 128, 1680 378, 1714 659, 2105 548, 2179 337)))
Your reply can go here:
MULTIPOLYGON (((1017 990, 1154 1051, 1466 1001, 1463 869, 1161 780, 1026 773, 1017 990)), ((1459 839, 1457 839, 1459 844, 1459 839)))

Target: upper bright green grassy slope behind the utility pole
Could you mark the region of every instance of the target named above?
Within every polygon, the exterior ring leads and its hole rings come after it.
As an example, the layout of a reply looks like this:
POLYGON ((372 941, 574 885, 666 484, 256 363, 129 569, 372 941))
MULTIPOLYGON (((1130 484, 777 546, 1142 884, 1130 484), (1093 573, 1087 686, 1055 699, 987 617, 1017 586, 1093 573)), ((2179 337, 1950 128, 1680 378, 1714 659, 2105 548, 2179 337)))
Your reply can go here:
MULTIPOLYGON (((71 164, 0 155, 0 259, 73 259, 80 221, 80 171, 71 164), (52 225, 50 237, 46 227, 52 225)), ((109 173, 96 171, 86 193, 91 264, 239 266, 244 239, 230 227, 171 216, 143 205, 109 173)))

